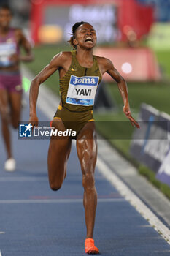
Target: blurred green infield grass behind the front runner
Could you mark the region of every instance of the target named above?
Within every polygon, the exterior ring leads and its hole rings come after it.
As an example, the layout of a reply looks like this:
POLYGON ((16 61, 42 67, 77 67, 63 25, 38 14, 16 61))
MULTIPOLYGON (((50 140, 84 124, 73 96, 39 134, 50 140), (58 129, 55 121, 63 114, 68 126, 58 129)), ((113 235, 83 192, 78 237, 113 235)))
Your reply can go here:
MULTIPOLYGON (((26 64, 26 67, 30 69, 34 74, 38 74, 47 64, 50 63, 50 60, 55 56, 55 54, 61 52, 62 50, 72 50, 69 45, 41 45, 34 48, 35 61, 32 63, 26 64)), ((131 106, 131 113, 134 118, 137 118, 139 113, 139 107, 142 102, 145 102, 149 105, 152 105, 154 108, 164 111, 170 114, 169 108, 169 97, 170 97, 170 51, 155 51, 158 62, 163 72, 163 80, 159 83, 148 82, 148 83, 128 83, 128 94, 129 102, 131 106)), ((116 60, 115 60, 116 62, 116 60)), ((52 89, 56 94, 59 94, 59 77, 58 72, 55 72, 50 78, 45 81, 45 84, 52 89)), ((116 110, 113 112, 96 112, 94 117, 96 119, 96 127, 98 132, 109 140, 109 143, 112 144, 120 154, 123 154, 128 160, 134 163, 139 168, 139 173, 147 176, 147 178, 154 184, 156 187, 161 189, 163 193, 170 198, 170 188, 167 185, 161 184, 160 181, 156 180, 155 173, 152 173, 147 167, 142 167, 139 165, 129 154, 129 146, 131 143, 132 133, 134 132, 134 127, 131 126, 130 122, 125 126, 120 127, 119 121, 128 121, 125 115, 123 114, 123 99, 120 97, 120 92, 117 89, 117 84, 109 83, 104 85, 107 87, 109 95, 112 96, 116 110), (100 121, 114 121, 112 125, 100 121), (116 122, 117 121, 117 122, 116 122), (120 139, 120 134, 125 134, 126 138, 129 139, 120 139), (108 136, 109 135, 109 136, 108 136), (112 137, 119 139, 111 140, 112 137), (152 173, 152 174, 151 174, 152 173)))

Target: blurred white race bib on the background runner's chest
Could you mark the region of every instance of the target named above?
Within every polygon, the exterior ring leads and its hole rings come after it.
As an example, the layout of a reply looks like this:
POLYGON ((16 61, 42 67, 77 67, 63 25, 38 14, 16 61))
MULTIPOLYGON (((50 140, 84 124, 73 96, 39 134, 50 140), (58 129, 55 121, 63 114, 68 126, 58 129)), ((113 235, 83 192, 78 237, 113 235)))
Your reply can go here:
POLYGON ((0 67, 8 67, 12 65, 9 56, 16 53, 16 45, 13 42, 0 43, 0 67))

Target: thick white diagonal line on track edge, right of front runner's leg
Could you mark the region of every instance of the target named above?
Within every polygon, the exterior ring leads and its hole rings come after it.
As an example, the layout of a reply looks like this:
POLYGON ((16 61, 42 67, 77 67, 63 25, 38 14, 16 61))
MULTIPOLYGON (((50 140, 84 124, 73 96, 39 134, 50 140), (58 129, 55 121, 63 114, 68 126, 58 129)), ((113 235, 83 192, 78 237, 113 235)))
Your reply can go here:
POLYGON ((125 197, 131 203, 136 211, 146 219, 155 230, 163 236, 163 238, 170 244, 170 230, 147 208, 142 200, 137 197, 134 192, 129 189, 123 181, 120 180, 115 173, 98 157, 97 164, 98 170, 105 178, 120 192, 120 195, 125 197))

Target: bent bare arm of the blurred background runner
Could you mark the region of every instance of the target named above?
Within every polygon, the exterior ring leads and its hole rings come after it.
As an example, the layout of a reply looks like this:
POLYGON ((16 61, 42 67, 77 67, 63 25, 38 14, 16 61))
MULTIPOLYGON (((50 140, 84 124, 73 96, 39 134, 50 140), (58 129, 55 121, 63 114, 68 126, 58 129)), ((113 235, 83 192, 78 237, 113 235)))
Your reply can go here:
POLYGON ((32 53, 32 47, 30 42, 28 42, 28 39, 26 39, 26 36, 23 34, 23 31, 21 29, 16 29, 15 31, 16 37, 18 39, 18 44, 20 47, 22 47, 26 53, 26 55, 20 55, 19 60, 20 61, 33 61, 34 56, 32 53))

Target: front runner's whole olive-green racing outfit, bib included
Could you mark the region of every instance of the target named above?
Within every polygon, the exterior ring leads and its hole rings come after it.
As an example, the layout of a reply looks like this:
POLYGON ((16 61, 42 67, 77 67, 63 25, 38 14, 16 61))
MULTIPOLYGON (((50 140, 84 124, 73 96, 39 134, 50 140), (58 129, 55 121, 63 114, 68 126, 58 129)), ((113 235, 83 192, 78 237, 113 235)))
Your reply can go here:
POLYGON ((58 106, 54 118, 60 118, 66 129, 76 131, 88 121, 93 121, 93 105, 101 82, 101 72, 96 56, 93 56, 93 67, 80 66, 76 58, 76 50, 72 50, 72 64, 60 79, 62 106, 58 106))

